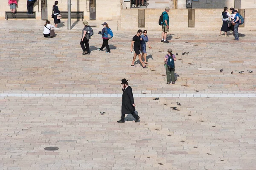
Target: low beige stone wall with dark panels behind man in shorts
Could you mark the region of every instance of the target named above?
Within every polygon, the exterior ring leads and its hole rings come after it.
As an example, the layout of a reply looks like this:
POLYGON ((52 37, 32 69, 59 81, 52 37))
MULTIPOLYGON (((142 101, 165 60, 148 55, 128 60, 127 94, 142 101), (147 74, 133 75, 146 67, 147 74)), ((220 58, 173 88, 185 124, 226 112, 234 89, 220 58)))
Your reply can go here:
MULTIPOLYGON (((158 20, 163 10, 145 9, 145 28, 138 27, 138 9, 121 10, 121 30, 134 31, 147 29, 161 31, 158 20)), ((188 27, 188 9, 171 9, 169 11, 170 30, 174 31, 218 31, 222 26, 222 9, 195 9, 195 27, 188 27)), ((256 30, 256 9, 245 9, 244 30, 256 30)))

